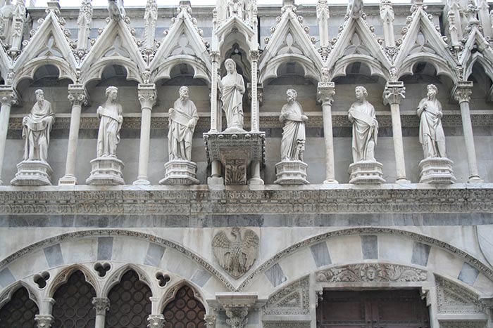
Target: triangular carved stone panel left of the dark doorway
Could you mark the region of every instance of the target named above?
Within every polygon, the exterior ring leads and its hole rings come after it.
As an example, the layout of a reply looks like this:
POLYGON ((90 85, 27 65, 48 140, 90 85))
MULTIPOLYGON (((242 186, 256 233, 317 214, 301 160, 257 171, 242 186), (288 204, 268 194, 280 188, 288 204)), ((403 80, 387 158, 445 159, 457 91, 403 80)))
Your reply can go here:
POLYGON ((306 315, 310 313, 310 281, 298 280, 270 296, 263 313, 266 315, 306 315))

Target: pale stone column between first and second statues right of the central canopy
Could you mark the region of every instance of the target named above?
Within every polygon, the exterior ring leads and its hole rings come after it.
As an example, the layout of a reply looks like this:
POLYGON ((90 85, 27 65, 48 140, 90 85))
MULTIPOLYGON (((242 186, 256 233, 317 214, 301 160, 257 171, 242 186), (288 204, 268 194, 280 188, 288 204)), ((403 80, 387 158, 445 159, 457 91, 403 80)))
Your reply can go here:
POLYGON ((338 183, 335 180, 334 138, 332 136, 332 102, 334 101, 334 95, 334 82, 318 82, 317 98, 322 103, 325 141, 325 181, 323 183, 338 183))

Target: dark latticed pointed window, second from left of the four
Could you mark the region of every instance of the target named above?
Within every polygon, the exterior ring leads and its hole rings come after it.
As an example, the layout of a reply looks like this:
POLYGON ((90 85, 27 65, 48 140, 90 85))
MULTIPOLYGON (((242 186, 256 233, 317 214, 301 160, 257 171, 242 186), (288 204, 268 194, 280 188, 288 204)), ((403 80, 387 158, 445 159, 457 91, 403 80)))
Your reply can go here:
POLYGON ((55 322, 51 327, 93 328, 96 320, 96 312, 92 306, 94 297, 96 291, 86 282, 84 274, 75 271, 53 296, 55 304, 52 315, 55 322))

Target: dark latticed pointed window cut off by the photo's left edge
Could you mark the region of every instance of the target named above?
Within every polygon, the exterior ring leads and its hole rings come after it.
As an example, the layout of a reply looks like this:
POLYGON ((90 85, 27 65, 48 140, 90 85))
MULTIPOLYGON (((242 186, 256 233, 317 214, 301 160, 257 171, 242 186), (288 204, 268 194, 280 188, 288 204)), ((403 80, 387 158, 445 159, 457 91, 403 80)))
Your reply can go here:
POLYGON ((0 309, 0 328, 34 328, 38 313, 39 309, 29 298, 27 289, 21 287, 13 293, 11 301, 0 309))

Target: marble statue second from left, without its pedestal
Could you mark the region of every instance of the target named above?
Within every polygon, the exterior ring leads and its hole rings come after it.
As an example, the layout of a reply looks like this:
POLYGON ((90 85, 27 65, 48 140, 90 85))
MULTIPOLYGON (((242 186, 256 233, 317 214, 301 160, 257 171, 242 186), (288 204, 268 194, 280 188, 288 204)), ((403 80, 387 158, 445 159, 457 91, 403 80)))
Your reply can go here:
POLYGON ((120 129, 123 123, 123 110, 116 103, 118 88, 108 86, 106 88, 106 103, 99 106, 97 114, 99 119, 97 157, 116 157, 116 145, 120 142, 120 129))

